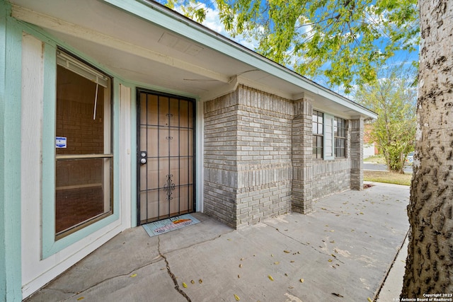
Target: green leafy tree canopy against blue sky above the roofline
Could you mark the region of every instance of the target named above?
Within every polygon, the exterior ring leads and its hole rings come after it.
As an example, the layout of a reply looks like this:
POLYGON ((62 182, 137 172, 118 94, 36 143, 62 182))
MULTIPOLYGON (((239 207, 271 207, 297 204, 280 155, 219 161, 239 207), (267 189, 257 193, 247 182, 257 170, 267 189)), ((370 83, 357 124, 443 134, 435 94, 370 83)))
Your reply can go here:
MULTIPOLYGON (((229 35, 258 41, 256 52, 332 86, 372 83, 376 70, 419 40, 416 0, 212 0, 229 35)), ((202 22, 205 4, 168 0, 202 22)))

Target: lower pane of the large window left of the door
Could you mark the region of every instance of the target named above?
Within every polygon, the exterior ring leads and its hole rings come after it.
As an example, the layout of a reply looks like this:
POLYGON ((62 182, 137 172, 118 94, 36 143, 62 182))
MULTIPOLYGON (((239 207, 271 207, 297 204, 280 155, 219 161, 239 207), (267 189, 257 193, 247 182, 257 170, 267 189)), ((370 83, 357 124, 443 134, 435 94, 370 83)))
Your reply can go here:
POLYGON ((57 161, 57 234, 111 211, 110 174, 110 158, 57 161))

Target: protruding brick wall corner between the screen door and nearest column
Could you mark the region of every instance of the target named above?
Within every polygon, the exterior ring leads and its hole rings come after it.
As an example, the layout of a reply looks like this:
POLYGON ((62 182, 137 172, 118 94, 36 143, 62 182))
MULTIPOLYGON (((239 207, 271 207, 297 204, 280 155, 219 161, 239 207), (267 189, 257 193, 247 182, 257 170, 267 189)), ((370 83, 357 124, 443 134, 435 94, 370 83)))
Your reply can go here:
POLYGON ((293 105, 245 86, 205 103, 205 212, 239 227, 291 210, 293 105))

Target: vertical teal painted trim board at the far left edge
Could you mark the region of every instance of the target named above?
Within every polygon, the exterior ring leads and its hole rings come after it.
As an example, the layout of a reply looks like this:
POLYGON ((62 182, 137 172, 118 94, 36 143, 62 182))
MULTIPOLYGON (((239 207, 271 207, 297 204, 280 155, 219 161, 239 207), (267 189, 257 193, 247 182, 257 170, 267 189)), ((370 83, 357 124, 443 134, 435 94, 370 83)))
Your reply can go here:
POLYGON ((0 1, 0 301, 22 301, 22 31, 0 1))

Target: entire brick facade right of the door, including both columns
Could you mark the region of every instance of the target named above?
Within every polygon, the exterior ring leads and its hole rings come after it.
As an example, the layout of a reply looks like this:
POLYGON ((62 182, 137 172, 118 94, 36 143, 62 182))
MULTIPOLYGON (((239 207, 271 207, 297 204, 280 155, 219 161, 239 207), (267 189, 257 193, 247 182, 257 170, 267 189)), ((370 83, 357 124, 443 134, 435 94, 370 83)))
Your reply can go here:
POLYGON ((239 228, 360 184, 360 122, 348 123, 347 156, 312 158, 312 101, 239 86, 204 104, 205 213, 239 228), (355 174, 351 171, 355 171, 355 174))

